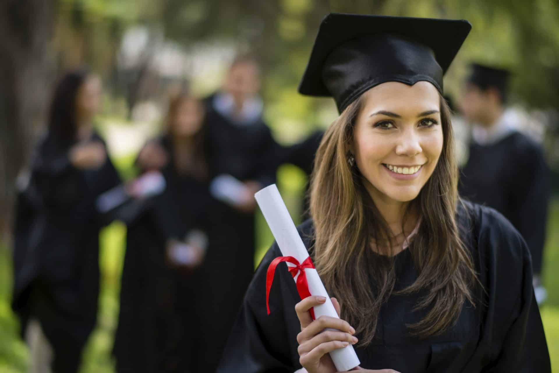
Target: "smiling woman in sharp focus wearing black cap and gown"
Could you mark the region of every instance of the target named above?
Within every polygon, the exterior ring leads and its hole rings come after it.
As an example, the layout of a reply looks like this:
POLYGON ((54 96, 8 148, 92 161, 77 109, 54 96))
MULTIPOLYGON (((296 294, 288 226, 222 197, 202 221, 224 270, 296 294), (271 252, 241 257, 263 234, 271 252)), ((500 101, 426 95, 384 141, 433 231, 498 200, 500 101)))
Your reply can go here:
POLYGON ((219 372, 550 372, 530 254, 502 215, 461 201, 443 74, 467 21, 331 14, 299 87, 331 96, 300 234, 341 319, 313 320, 272 245, 219 372), (340 312, 341 309, 341 312, 340 312), (325 330, 331 328, 335 330, 325 330))

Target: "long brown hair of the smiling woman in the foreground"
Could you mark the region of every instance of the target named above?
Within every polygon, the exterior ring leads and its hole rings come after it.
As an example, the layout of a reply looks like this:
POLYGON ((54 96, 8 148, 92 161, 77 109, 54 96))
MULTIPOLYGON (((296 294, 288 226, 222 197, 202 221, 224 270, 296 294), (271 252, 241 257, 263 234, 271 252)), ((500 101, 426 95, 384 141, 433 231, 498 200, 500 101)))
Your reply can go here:
POLYGON ((348 164, 349 145, 362 107, 362 98, 350 104, 330 125, 315 157, 311 178, 310 211, 315 226, 315 266, 326 289, 342 306, 342 318, 361 333, 367 346, 375 336, 381 305, 392 293, 427 290, 416 310, 428 309, 410 332, 428 337, 453 325, 466 300, 473 305, 476 273, 469 251, 458 234, 458 167, 454 158, 451 112, 440 97, 443 148, 432 176, 408 205, 421 217, 410 244, 417 280, 395 291, 394 258, 373 253, 376 242, 391 242, 392 233, 367 192, 357 166, 348 164), (372 288, 371 288, 372 283, 372 288))

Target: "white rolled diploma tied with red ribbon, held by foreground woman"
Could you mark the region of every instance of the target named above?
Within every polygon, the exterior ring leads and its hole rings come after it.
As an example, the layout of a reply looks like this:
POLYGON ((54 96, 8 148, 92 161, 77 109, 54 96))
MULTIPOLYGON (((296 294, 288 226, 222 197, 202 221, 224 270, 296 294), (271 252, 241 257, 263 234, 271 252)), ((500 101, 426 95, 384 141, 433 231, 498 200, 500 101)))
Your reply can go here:
MULTIPOLYGON (((297 232, 297 228, 295 228, 295 224, 283 203, 276 185, 272 184, 258 191, 254 197, 258 202, 258 206, 260 206, 260 210, 262 210, 262 214, 264 214, 268 226, 272 230, 274 238, 276 238, 282 255, 294 257, 299 263, 305 261, 309 256, 309 252, 307 252, 305 244, 299 232, 297 232)), ((305 268, 305 273, 310 293, 326 298, 324 304, 314 307, 315 317, 319 318, 321 315, 325 315, 338 318, 338 314, 330 301, 330 296, 326 292, 318 272, 314 268, 305 268)), ((330 357, 339 372, 348 371, 359 365, 359 358, 351 344, 330 352, 330 357)))

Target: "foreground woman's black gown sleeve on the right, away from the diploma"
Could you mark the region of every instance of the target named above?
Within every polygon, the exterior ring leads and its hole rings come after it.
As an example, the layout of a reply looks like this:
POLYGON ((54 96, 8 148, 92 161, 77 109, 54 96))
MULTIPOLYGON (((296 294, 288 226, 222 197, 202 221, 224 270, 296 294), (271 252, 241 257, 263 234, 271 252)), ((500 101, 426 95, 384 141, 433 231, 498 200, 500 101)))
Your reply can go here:
POLYGON ((501 214, 483 209, 479 248, 486 270, 480 280, 486 288, 487 311, 481 343, 489 345, 491 357, 484 372, 551 373, 527 244, 501 214))

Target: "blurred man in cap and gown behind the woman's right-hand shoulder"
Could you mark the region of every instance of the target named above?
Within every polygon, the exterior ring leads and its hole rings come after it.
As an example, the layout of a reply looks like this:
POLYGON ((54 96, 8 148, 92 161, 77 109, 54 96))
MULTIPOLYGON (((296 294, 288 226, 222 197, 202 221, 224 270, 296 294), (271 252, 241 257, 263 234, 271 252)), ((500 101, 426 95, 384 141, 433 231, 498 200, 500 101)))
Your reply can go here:
POLYGON ((542 147, 521 133, 505 111, 509 77, 508 70, 471 65, 460 106, 473 128, 459 191, 499 211, 522 234, 532 254, 540 303, 545 298, 540 275, 551 181, 542 147))

